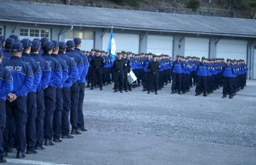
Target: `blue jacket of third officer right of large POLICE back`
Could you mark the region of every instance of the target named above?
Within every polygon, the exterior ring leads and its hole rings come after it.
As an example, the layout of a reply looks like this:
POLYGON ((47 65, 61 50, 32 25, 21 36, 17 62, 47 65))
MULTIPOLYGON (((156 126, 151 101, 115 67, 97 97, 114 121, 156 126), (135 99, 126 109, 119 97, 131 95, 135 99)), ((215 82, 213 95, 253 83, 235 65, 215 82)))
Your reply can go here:
POLYGON ((51 67, 51 78, 48 84, 49 87, 58 87, 59 83, 62 80, 62 69, 59 61, 54 59, 50 54, 43 53, 41 57, 48 62, 51 67))

